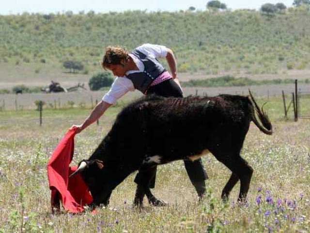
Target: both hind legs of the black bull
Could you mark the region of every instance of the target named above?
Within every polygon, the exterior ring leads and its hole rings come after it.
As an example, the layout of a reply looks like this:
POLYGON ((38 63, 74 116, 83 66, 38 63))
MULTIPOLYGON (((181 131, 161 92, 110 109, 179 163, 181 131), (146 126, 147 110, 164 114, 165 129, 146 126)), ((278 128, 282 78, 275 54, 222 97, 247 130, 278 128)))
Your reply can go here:
POLYGON ((232 190, 233 186, 238 182, 240 179, 240 192, 239 192, 239 201, 244 201, 248 195, 248 189, 250 186, 253 168, 248 165, 248 162, 240 157, 239 154, 235 156, 225 156, 219 159, 225 166, 227 166, 232 172, 232 176, 225 185, 222 193, 222 198, 228 198, 229 192, 232 190))

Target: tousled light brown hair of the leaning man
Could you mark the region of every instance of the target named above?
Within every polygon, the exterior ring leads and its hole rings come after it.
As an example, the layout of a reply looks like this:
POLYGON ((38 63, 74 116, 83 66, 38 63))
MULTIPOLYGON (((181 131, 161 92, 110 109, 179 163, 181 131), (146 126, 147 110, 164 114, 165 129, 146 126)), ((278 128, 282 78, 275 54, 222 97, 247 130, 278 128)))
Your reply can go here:
POLYGON ((122 60, 128 58, 128 51, 120 46, 108 46, 101 60, 101 66, 107 69, 110 65, 120 65, 122 60))

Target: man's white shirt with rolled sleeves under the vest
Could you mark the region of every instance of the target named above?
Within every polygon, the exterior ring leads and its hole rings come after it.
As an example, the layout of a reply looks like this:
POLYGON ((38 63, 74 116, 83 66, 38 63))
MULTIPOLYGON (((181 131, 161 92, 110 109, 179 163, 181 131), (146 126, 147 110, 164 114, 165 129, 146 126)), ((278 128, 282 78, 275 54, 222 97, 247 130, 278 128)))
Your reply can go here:
MULTIPOLYGON (((144 53, 145 55, 153 58, 166 57, 168 52, 167 47, 153 44, 143 44, 139 46, 137 49, 142 53, 144 53)), ((136 72, 143 72, 144 71, 143 63, 136 56, 132 54, 129 54, 129 56, 133 59, 139 70, 127 71, 126 75, 136 72)), ((115 104, 117 100, 120 99, 122 96, 124 96, 124 94, 126 94, 128 91, 134 91, 134 90, 135 90, 134 84, 130 79, 127 79, 125 76, 116 77, 116 79, 111 85, 109 92, 104 95, 102 100, 109 104, 115 104)))

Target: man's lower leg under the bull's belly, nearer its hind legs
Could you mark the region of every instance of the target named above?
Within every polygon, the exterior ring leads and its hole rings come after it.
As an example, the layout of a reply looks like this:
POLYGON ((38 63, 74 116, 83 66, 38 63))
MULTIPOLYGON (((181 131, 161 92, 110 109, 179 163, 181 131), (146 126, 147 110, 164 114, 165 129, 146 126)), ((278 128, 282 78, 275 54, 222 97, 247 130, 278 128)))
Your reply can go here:
POLYGON ((207 173, 205 172, 202 159, 195 161, 184 160, 187 175, 194 185, 198 197, 201 199, 205 194, 205 180, 208 179, 207 173))

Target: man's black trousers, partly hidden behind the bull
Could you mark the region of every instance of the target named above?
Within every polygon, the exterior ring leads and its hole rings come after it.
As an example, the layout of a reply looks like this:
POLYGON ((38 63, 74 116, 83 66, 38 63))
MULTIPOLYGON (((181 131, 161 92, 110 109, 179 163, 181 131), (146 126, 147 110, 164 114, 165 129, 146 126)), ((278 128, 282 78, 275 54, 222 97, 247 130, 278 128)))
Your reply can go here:
MULTIPOLYGON (((151 86, 147 91, 147 95, 150 94, 156 94, 163 97, 183 97, 183 93, 179 85, 175 83, 172 79, 159 83, 155 86, 151 86)), ((184 165, 187 175, 192 183, 208 179, 207 173, 203 168, 201 159, 195 160, 194 162, 184 160, 184 165)), ((139 171, 135 178, 135 183, 140 184, 142 183, 142 180, 149 180, 149 187, 154 188, 156 171, 157 166, 154 166, 148 170, 139 171)))

